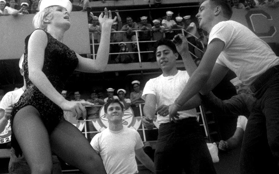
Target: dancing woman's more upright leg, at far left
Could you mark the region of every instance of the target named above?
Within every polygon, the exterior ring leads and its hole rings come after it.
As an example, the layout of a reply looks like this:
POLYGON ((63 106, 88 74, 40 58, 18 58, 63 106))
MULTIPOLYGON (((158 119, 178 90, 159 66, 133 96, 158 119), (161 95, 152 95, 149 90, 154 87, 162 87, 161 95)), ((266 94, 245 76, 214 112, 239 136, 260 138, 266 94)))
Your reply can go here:
POLYGON ((52 155, 48 132, 33 106, 20 109, 13 119, 13 132, 17 138, 32 174, 50 174, 52 155))

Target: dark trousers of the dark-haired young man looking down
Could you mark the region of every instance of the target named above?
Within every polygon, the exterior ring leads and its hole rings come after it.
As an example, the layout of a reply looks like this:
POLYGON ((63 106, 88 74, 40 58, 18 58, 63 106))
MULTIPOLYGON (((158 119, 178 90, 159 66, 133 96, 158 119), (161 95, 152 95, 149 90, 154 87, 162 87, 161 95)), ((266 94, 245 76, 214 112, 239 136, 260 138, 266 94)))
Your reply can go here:
POLYGON ((155 149, 155 173, 216 173, 196 118, 162 123, 155 149))

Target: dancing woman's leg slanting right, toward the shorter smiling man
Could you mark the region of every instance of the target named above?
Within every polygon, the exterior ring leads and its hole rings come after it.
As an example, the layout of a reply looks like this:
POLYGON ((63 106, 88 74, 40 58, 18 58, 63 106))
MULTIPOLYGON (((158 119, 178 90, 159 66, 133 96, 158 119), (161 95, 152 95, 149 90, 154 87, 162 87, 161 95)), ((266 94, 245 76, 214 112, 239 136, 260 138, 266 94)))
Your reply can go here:
POLYGON ((74 125, 62 119, 50 135, 52 151, 85 174, 105 174, 101 157, 74 125))

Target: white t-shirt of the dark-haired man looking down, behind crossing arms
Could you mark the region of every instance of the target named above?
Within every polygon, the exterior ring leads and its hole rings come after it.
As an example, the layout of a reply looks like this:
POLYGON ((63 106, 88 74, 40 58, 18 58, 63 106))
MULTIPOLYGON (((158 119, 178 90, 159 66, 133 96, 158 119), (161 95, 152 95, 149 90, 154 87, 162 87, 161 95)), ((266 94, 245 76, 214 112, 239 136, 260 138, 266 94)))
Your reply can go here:
MULTIPOLYGON (((164 77, 163 74, 161 74, 159 77, 152 78, 147 81, 144 86, 142 99, 145 100, 147 94, 154 94, 156 96, 156 108, 162 104, 167 106, 173 104, 184 89, 189 78, 187 71, 181 70, 178 70, 178 73, 174 76, 164 77)), ((197 117, 195 108, 187 111, 179 111, 178 113, 180 114, 179 119, 197 117)), ((168 123, 169 115, 163 117, 158 114, 157 122, 158 124, 168 123)))

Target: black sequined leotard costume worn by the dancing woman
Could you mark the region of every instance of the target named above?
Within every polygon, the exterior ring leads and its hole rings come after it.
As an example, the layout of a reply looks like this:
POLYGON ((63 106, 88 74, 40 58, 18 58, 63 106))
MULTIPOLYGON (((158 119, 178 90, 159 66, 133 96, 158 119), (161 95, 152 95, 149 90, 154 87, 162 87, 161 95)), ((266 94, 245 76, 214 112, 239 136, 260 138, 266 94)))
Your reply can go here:
MULTIPOLYGON (((42 71, 47 76, 54 88, 59 93, 61 93, 64 89, 65 82, 78 65, 78 58, 75 52, 65 44, 62 44, 53 38, 48 32, 46 32, 46 34, 48 36, 48 44, 45 49, 44 65, 42 71)), ((40 90, 29 80, 27 55, 28 41, 30 36, 31 34, 25 39, 25 52, 23 61, 24 78, 27 88, 13 108, 11 114, 11 127, 13 127, 13 118, 17 111, 27 105, 32 105, 39 111, 40 117, 43 120, 48 133, 50 134, 59 121, 63 118, 63 110, 58 105, 49 100, 43 93, 41 93, 40 90)), ((15 149, 16 155, 22 155, 21 148, 14 136, 13 129, 11 144, 15 149)))

